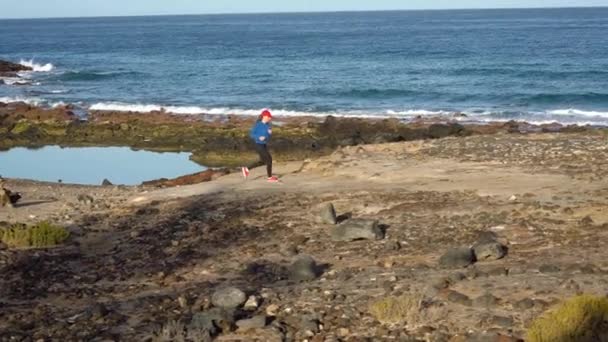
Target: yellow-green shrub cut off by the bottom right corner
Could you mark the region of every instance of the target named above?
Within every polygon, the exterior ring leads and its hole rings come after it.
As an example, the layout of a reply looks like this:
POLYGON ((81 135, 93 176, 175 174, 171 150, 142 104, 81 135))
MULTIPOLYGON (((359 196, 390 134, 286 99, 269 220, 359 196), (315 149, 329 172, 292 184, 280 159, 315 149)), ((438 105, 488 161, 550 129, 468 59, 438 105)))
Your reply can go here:
POLYGON ((536 319, 528 329, 529 342, 608 341, 608 298, 571 298, 536 319))

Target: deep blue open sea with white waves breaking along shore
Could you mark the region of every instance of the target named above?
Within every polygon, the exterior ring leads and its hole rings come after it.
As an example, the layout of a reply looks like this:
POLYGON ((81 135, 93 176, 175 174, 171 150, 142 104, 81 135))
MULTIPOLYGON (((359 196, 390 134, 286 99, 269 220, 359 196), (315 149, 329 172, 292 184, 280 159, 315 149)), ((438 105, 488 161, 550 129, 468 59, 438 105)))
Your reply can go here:
POLYGON ((608 125, 608 8, 0 20, 0 59, 5 102, 608 125))

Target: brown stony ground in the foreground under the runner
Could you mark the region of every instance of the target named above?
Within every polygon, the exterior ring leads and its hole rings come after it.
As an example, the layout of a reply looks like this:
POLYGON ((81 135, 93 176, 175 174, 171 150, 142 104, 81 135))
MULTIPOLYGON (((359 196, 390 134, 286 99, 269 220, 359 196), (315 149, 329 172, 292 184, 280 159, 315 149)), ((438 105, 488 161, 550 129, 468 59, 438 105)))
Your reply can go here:
POLYGON ((0 221, 48 219, 72 237, 0 251, 0 339, 204 340, 212 294, 234 286, 257 298, 236 318, 266 319, 249 330, 217 319, 219 341, 515 341, 552 304, 608 293, 601 131, 344 147, 280 163, 281 184, 262 171, 165 189, 10 180, 24 204, 0 221), (328 203, 343 224, 378 220, 384 238, 334 241, 319 223, 328 203), (506 257, 440 266, 480 236, 506 257), (303 255, 315 279, 294 276, 303 255), (393 325, 370 314, 399 295, 424 298, 426 314, 393 325))

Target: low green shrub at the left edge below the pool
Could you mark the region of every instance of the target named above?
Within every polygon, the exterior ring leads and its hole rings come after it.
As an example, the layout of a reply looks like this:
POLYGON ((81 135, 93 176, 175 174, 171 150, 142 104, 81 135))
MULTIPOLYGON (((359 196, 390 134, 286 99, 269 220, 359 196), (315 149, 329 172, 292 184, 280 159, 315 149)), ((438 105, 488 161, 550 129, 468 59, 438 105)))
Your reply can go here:
POLYGON ((65 241, 70 233, 63 227, 40 222, 33 226, 15 224, 0 230, 0 240, 10 247, 51 247, 65 241))

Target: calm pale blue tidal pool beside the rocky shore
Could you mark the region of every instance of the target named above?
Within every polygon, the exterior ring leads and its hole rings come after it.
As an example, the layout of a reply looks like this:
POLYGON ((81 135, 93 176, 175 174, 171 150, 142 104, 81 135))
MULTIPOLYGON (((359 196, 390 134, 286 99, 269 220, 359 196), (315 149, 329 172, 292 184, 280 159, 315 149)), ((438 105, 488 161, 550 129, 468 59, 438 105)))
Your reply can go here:
POLYGON ((134 151, 127 147, 40 149, 13 148, 0 152, 0 175, 70 184, 137 185, 144 181, 175 178, 204 171, 190 161, 189 153, 134 151))

